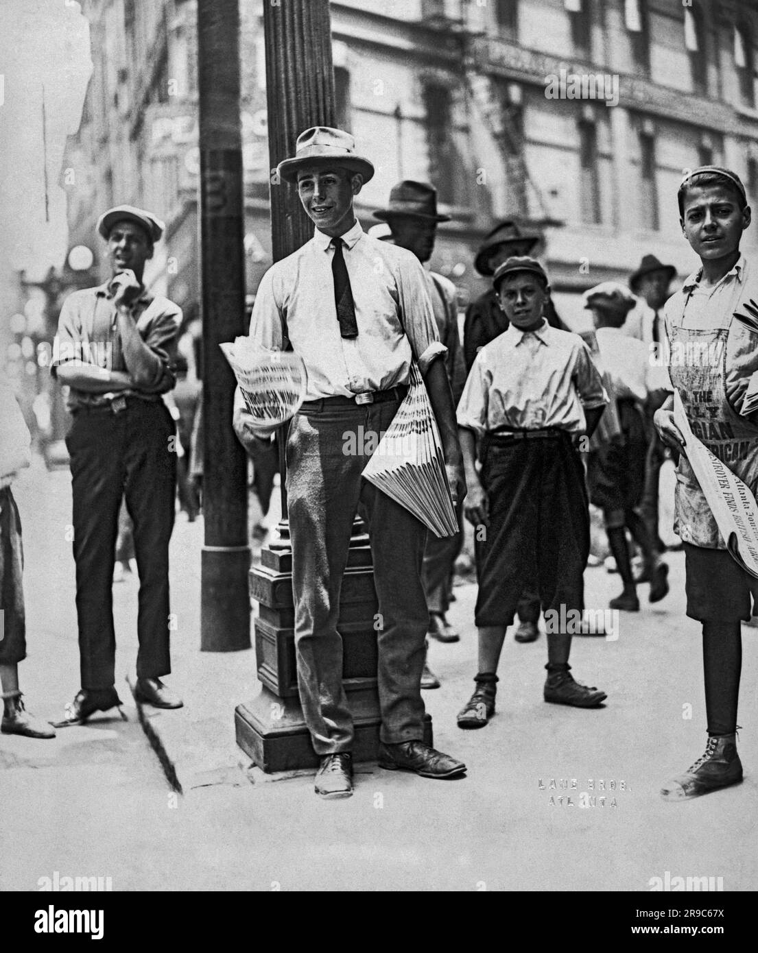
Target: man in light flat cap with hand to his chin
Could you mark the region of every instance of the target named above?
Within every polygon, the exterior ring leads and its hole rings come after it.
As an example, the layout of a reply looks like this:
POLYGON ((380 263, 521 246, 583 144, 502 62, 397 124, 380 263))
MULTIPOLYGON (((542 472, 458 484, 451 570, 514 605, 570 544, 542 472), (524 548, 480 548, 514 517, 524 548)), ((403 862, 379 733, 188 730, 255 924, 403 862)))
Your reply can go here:
POLYGON ((61 726, 121 702, 115 690, 113 562, 122 498, 133 520, 139 573, 136 696, 178 708, 161 678, 169 659, 169 540, 174 528, 175 425, 163 394, 174 387, 181 310, 142 280, 164 225, 121 205, 100 216, 112 277, 74 292, 58 321, 52 373, 69 388, 73 558, 81 689, 61 726))

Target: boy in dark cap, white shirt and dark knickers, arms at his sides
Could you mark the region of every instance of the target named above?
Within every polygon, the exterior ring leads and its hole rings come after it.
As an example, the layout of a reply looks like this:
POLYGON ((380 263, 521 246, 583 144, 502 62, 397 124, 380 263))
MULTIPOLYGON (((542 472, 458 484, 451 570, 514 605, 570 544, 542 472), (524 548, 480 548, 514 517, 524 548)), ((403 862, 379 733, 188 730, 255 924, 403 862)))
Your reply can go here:
MULTIPOLYGON (((552 618, 581 618, 589 516, 575 444, 592 434, 608 402, 582 338, 543 318, 550 288, 540 263, 509 258, 493 286, 508 330, 481 349, 458 407, 468 487, 464 512, 477 527, 479 576, 479 673, 458 716, 461 728, 481 728, 495 713, 505 630, 529 583, 552 618)), ((571 677, 571 633, 556 628, 566 626, 547 625, 544 700, 599 705, 605 693, 571 677)))

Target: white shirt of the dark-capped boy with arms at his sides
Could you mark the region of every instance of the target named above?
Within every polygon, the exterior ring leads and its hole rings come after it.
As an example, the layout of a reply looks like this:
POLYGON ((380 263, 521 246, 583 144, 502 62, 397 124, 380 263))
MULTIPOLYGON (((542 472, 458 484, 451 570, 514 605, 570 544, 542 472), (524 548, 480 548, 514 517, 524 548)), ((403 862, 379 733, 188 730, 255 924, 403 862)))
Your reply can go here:
POLYGON ((607 402, 579 335, 546 321, 531 332, 510 325, 477 355, 458 405, 458 424, 478 436, 503 427, 582 434, 584 411, 607 402))

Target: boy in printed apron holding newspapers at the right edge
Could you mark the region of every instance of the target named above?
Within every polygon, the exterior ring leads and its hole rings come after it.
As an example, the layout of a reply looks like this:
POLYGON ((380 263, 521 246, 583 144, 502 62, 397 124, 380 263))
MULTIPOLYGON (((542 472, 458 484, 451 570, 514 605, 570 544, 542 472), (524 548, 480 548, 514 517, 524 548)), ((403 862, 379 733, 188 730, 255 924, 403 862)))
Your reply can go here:
MULTIPOLYGON (((758 494, 758 420, 745 416, 748 381, 758 370, 758 274, 740 251, 750 224, 739 176, 702 166, 677 195, 680 225, 701 266, 666 302, 669 375, 694 436, 758 494)), ((737 703, 742 669, 740 623, 750 618, 758 582, 727 551, 725 540, 687 460, 672 412, 656 412, 667 446, 680 454, 674 532, 684 542, 686 614, 703 627, 707 745, 686 772, 667 781, 667 801, 684 801, 742 781, 737 754, 737 703)))

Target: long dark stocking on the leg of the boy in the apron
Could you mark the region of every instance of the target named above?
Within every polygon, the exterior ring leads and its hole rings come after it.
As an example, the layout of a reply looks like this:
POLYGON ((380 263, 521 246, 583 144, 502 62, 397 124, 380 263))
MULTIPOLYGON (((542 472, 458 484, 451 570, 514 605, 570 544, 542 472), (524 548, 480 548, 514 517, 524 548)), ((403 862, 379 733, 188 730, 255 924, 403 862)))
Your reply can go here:
POLYGON ((731 735, 737 728, 742 670, 739 622, 703 623, 703 673, 708 735, 731 735))

